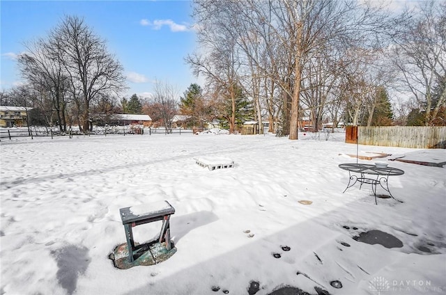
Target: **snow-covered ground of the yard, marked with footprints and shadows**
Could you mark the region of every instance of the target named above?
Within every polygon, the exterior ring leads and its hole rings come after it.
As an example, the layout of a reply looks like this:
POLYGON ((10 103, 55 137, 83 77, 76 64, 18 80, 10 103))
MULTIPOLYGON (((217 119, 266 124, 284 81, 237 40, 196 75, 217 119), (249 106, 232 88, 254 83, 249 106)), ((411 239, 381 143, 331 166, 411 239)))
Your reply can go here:
MULTIPOLYGON (((375 205, 369 184, 342 193, 348 172, 338 165, 355 163, 347 154, 357 152, 344 134, 299 138, 2 139, 0 293, 445 294, 445 168, 379 159, 405 171, 389 179, 403 202, 375 205), (234 167, 209 170, 197 158, 231 159, 234 167), (116 269, 108 255, 125 242, 119 209, 160 200, 176 209, 177 252, 153 266, 116 269), (403 246, 353 239, 373 230, 403 246)), ((422 154, 446 161, 446 150, 422 154)), ((150 241, 159 230, 160 222, 139 225, 134 239, 150 241)))

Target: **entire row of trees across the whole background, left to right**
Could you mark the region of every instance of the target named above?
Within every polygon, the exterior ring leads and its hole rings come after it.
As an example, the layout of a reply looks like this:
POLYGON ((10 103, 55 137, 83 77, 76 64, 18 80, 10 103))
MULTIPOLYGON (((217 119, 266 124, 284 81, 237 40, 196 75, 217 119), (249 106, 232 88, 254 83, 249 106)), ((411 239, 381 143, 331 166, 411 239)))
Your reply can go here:
POLYGON ((18 65, 27 83, 0 103, 32 106, 36 124, 91 128, 92 114, 147 113, 171 127, 219 120, 235 131, 268 118, 291 139, 298 121, 446 125, 446 3, 397 15, 356 0, 195 0, 197 51, 185 60, 206 78, 183 93, 155 83, 152 96, 118 99, 123 67, 83 19, 66 17, 29 42, 18 65), (391 93, 391 94, 390 94, 391 93), (406 93, 401 99, 394 93, 406 93), (180 99, 178 100, 178 97, 180 99), (393 100, 394 104, 390 103, 393 100))

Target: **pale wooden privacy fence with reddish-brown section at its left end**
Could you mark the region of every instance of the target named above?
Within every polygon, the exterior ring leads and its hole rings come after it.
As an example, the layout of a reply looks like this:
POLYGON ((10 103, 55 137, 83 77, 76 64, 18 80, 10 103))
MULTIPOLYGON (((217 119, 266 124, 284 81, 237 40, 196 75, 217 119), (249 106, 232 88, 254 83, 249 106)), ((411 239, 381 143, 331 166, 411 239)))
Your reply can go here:
MULTIPOLYGON (((348 131, 346 131, 346 134, 348 134, 348 131)), ((354 138, 354 134, 350 134, 349 137, 354 138)), ((446 148, 446 126, 360 126, 357 127, 357 141, 360 145, 381 145, 400 148, 446 148)))

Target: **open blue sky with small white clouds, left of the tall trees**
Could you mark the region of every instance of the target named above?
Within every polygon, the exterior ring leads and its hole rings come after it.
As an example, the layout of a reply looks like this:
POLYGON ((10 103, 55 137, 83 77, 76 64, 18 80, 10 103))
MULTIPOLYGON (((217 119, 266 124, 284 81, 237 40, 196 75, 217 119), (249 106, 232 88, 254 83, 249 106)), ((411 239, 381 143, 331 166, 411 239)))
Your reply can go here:
POLYGON ((195 48, 191 1, 0 1, 1 90, 22 81, 15 56, 24 42, 45 38, 66 15, 83 17, 123 65, 129 90, 144 97, 154 81, 180 95, 197 83, 184 61, 195 48))

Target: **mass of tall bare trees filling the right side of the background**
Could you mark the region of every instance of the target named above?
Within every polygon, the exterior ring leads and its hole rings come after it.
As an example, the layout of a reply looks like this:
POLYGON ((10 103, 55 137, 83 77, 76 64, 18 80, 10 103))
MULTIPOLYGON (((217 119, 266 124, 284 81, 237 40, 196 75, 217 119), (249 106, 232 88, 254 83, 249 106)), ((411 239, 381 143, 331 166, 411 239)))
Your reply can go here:
MULTIPOLYGON (((446 3, 429 1, 399 15, 376 1, 195 0, 199 50, 187 56, 206 78, 208 97, 238 90, 262 117, 298 138, 310 115, 334 125, 390 125, 389 91, 406 91, 397 115, 413 109, 422 125, 445 124, 446 3)), ((403 123, 403 122, 399 122, 403 123)))

